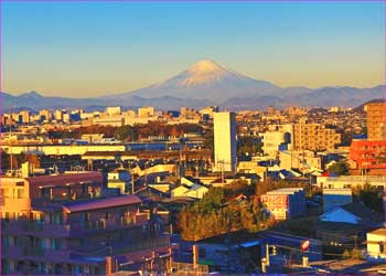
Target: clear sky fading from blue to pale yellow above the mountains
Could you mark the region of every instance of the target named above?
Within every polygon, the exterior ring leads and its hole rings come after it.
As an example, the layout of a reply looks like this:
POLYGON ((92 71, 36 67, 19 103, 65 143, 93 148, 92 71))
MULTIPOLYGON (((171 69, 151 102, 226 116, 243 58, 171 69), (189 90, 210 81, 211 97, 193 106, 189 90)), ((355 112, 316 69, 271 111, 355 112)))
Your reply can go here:
POLYGON ((2 2, 2 91, 98 96, 202 59, 279 86, 385 77, 384 2, 2 2))

